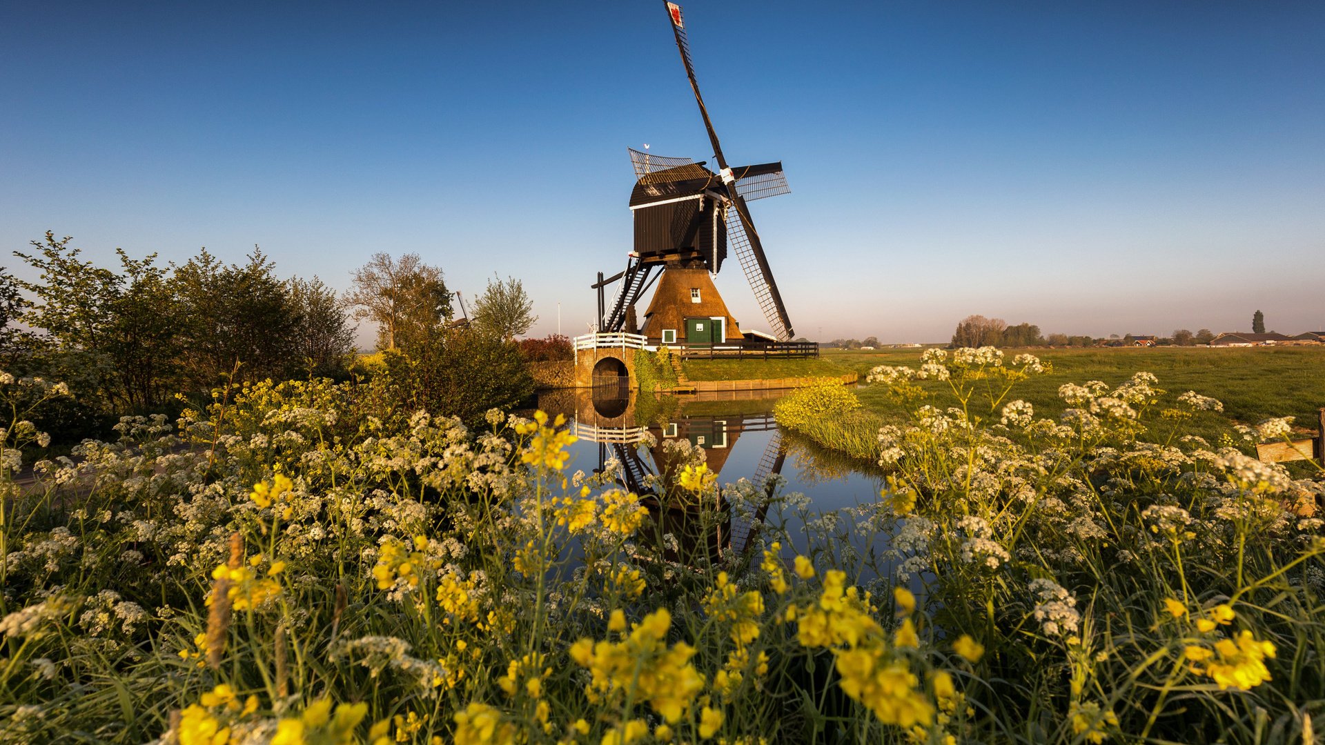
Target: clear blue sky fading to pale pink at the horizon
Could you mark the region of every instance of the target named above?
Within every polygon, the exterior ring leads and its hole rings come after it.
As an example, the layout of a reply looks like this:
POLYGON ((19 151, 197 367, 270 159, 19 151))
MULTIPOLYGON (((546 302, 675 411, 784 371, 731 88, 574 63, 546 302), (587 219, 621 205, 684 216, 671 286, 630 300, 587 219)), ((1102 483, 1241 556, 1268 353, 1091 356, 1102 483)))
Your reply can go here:
MULTIPOLYGON (((1325 325, 1325 4, 684 7, 727 158, 786 164, 753 212, 798 334, 1325 325)), ((5 253, 417 252, 523 280, 537 334, 624 265, 625 147, 712 151, 655 0, 7 3, 0 54, 5 253)))

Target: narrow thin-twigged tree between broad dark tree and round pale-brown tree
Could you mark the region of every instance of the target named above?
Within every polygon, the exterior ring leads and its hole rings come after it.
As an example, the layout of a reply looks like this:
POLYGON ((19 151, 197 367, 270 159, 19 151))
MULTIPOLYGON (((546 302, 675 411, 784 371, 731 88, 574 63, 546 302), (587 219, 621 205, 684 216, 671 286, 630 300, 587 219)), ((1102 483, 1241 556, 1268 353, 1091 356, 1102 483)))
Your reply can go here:
POLYGON ((335 290, 313 280, 290 280, 290 304, 295 314, 294 347, 305 375, 338 378, 354 354, 354 326, 335 290))

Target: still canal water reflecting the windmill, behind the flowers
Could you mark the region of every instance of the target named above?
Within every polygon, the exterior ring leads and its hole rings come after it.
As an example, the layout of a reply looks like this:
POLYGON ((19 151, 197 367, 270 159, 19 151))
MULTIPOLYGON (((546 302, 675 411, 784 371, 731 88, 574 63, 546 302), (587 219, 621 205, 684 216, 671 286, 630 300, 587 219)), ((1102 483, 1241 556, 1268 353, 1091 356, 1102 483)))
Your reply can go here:
MULTIPOLYGON (((882 475, 868 463, 835 455, 778 427, 772 406, 788 391, 734 391, 656 398, 627 386, 563 388, 539 395, 538 407, 562 414, 579 440, 571 445, 570 471, 602 471, 615 459, 617 483, 636 493, 648 490, 649 475, 668 469, 669 440, 702 447, 709 469, 721 484, 747 479, 763 487, 774 473, 783 493, 803 493, 812 512, 873 504, 882 475)), ((776 517, 776 516, 768 516, 776 517)), ((727 541, 735 547, 749 525, 734 524, 727 541)), ((792 532, 791 550, 804 550, 803 532, 792 532)))

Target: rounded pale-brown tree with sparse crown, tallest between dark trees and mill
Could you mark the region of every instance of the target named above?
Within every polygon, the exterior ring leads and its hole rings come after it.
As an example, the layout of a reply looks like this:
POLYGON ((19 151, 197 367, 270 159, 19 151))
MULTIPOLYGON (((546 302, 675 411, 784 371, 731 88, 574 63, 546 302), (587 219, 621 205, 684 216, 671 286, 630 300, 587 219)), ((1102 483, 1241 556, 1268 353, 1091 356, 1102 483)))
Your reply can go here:
POLYGON ((344 301, 355 309, 356 319, 378 325, 378 349, 423 343, 435 326, 450 318, 450 292, 441 269, 424 264, 417 253, 400 258, 374 253, 351 277, 354 288, 344 301))

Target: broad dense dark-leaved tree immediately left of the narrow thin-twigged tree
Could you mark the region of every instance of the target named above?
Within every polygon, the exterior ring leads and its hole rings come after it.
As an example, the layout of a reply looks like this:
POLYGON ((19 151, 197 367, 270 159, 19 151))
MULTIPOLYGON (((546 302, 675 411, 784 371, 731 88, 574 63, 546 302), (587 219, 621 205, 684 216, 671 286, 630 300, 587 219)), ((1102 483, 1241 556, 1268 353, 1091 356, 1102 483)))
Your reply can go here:
POLYGON ((171 284, 183 318, 182 361, 195 390, 208 391, 236 370, 236 382, 295 374, 290 289, 261 249, 253 247, 246 264, 227 265, 204 248, 175 269, 171 284))

